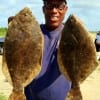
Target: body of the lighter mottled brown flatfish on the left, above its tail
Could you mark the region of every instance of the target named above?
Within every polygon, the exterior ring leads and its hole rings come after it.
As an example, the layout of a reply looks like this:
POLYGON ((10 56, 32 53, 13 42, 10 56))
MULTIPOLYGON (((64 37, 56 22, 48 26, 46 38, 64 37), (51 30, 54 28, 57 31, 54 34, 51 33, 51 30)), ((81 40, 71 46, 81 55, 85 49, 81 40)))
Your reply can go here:
POLYGON ((42 47, 40 26, 26 7, 9 24, 4 43, 3 72, 14 92, 23 91, 41 71, 42 47))

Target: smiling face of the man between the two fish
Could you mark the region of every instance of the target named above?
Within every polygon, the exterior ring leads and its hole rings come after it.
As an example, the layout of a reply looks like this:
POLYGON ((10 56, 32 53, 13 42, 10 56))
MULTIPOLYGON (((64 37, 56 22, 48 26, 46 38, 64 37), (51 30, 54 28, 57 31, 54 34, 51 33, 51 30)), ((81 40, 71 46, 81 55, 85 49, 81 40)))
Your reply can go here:
POLYGON ((46 2, 43 6, 43 12, 45 15, 46 27, 49 30, 54 30, 63 21, 67 6, 62 1, 50 1, 46 2))

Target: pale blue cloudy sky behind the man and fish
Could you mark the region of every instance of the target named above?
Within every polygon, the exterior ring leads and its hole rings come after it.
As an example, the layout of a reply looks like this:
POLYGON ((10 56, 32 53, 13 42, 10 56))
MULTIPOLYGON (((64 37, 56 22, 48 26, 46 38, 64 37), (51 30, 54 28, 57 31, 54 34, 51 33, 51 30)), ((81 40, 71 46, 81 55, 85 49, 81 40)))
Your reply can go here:
MULTIPOLYGON (((100 0, 68 0, 68 11, 78 16, 89 31, 100 31, 100 0)), ((8 17, 14 16, 24 7, 29 7, 39 24, 44 23, 42 0, 0 0, 0 27, 7 27, 8 17)))

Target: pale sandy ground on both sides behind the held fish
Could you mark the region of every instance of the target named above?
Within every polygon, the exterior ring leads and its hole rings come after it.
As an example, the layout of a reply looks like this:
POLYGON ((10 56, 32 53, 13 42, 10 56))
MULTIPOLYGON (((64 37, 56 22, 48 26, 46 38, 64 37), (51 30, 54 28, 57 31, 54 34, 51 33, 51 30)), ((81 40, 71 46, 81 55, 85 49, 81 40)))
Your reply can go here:
MULTIPOLYGON (((12 86, 2 73, 2 56, 0 56, 0 93, 10 95, 12 86)), ((100 100, 100 66, 81 84, 83 100, 100 100)))

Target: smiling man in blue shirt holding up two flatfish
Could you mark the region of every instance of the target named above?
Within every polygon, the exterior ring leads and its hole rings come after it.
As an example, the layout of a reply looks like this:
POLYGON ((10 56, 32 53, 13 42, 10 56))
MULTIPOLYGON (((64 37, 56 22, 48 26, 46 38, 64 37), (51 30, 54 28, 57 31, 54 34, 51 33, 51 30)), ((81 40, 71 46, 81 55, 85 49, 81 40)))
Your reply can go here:
POLYGON ((65 0, 43 0, 45 24, 41 25, 44 36, 42 70, 27 87, 27 100, 65 100, 71 83, 61 74, 57 62, 57 48, 64 27, 62 21, 68 9, 65 0))

